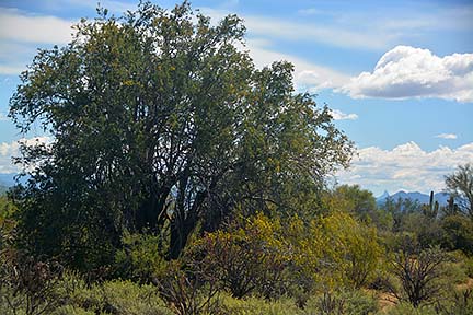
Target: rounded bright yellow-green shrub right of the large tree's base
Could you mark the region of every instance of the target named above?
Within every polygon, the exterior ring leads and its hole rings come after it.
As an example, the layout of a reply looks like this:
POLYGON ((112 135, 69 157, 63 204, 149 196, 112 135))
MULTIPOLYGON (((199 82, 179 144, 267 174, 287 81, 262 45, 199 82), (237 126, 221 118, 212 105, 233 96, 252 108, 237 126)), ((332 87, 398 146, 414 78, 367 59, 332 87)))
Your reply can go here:
POLYGON ((288 229, 293 264, 319 290, 360 288, 373 275, 382 254, 377 231, 348 213, 332 213, 288 229))

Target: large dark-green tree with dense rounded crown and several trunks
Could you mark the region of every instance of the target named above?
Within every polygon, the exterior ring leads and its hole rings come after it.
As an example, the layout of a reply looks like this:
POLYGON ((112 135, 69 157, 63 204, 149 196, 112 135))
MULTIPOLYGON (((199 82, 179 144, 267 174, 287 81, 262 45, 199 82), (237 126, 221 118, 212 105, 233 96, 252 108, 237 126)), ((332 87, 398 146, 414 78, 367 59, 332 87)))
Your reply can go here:
POLYGON ((351 142, 295 92, 292 66, 254 68, 235 15, 214 25, 186 2, 99 13, 41 50, 10 102, 22 132, 54 139, 20 159, 33 170, 20 231, 37 253, 100 265, 130 230, 164 235, 175 258, 198 222, 293 209, 348 163, 351 142))

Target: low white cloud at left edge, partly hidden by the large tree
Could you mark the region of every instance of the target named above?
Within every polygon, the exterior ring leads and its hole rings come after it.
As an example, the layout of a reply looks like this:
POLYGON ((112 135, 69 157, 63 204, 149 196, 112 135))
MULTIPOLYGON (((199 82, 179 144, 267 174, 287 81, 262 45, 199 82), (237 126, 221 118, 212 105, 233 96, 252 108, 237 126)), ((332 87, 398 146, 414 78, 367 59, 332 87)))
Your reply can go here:
POLYGON ((22 170, 21 165, 14 165, 12 163, 13 156, 20 155, 20 145, 21 143, 26 143, 27 145, 41 144, 41 143, 50 143, 51 138, 47 136, 43 137, 34 137, 34 138, 22 138, 18 141, 12 142, 1 142, 0 143, 0 173, 9 174, 9 173, 18 173, 22 170))

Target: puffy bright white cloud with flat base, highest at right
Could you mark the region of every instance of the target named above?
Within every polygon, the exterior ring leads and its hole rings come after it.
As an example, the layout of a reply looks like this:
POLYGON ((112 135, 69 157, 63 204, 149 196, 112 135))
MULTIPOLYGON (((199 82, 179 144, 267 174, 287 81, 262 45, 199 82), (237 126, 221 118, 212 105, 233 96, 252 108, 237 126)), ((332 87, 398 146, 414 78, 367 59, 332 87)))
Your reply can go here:
POLYGON ((354 98, 439 97, 473 102, 473 54, 438 57, 428 49, 397 46, 372 72, 361 72, 339 91, 354 98))

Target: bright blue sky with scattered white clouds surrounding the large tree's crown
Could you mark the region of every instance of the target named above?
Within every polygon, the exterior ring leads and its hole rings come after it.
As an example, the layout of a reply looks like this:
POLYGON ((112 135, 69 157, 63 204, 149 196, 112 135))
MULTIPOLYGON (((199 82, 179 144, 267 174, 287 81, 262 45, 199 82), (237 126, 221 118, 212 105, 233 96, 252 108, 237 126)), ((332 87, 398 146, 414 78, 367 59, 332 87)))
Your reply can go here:
MULTIPOLYGON (((171 8, 174 1, 153 1, 171 8)), ((101 1, 115 14, 137 1, 101 1)), ((374 195, 443 188, 443 176, 473 162, 471 1, 192 1, 218 20, 244 19, 258 67, 286 59, 299 91, 316 93, 355 141, 341 184, 374 195)), ((65 45, 70 25, 95 16, 96 1, 0 0, 0 173, 22 138, 5 117, 18 75, 36 48, 65 45)), ((50 140, 50 139, 49 139, 50 140)))

